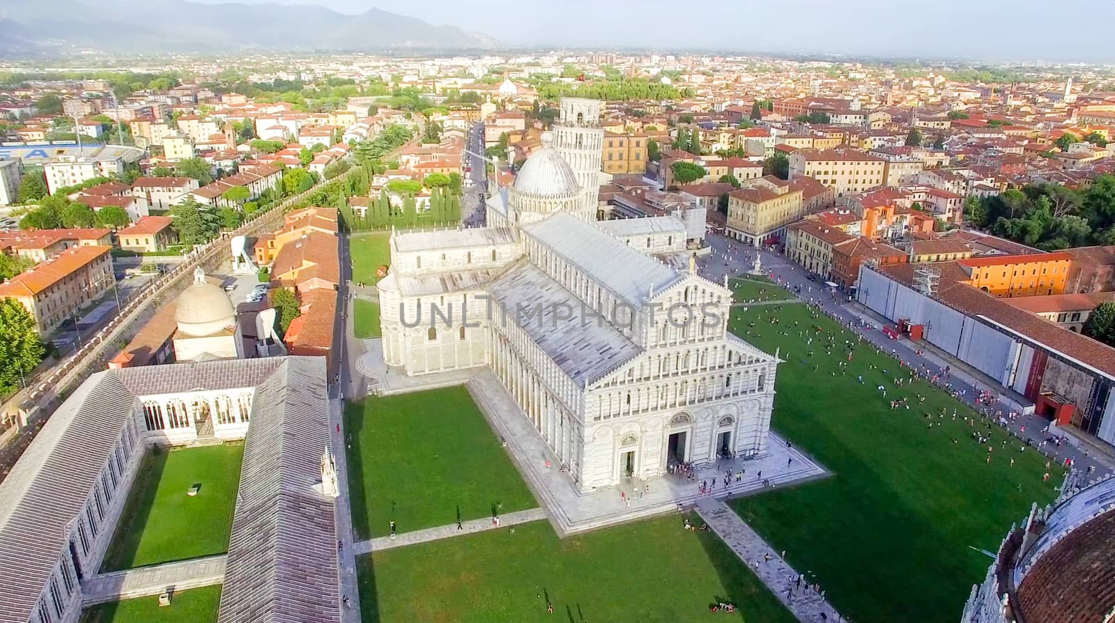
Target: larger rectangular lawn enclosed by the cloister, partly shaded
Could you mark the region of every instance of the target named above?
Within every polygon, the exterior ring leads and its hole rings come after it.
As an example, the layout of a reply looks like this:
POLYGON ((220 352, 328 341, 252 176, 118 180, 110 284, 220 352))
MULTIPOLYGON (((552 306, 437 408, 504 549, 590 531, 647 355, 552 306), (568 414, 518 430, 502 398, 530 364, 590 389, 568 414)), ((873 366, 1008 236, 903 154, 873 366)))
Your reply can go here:
POLYGON ((227 552, 243 456, 243 444, 148 451, 101 572, 227 552))

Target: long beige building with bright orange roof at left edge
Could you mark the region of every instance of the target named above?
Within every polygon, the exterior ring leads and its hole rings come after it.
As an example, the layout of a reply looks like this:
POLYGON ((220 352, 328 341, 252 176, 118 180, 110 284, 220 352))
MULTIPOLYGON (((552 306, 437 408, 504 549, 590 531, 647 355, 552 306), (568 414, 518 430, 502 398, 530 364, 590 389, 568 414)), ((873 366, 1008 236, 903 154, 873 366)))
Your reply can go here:
POLYGON ((39 334, 58 328, 116 283, 110 246, 75 246, 0 284, 35 318, 39 334))

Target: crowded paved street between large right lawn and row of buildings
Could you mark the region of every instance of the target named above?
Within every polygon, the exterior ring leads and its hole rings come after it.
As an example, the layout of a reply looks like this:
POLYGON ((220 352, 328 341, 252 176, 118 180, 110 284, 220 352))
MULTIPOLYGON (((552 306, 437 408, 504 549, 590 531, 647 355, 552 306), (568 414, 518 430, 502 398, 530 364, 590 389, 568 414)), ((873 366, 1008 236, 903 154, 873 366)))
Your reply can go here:
MULTIPOLYGON (((969 406, 976 408, 973 399, 977 396, 977 390, 973 386, 978 386, 981 390, 990 389, 996 392, 998 403, 991 409, 1001 409, 1005 413, 1015 409, 1011 399, 1017 402, 1020 397, 1005 396, 1002 392, 998 392, 997 389, 1000 389, 1001 386, 991 379, 968 370, 966 366, 951 360, 951 358, 947 359, 934 353, 934 349, 927 348, 924 344, 917 344, 905 339, 891 340, 880 330, 883 324, 889 324, 886 319, 874 314, 856 302, 850 302, 844 292, 832 293, 823 283, 809 281, 806 271, 785 256, 767 251, 757 251, 753 246, 720 234, 708 234, 707 240, 712 247, 712 253, 698 260, 700 273, 706 278, 717 283, 724 283, 725 274, 746 276, 746 273, 754 265, 755 253, 759 253, 765 274, 773 273, 787 288, 799 291, 803 299, 817 304, 830 315, 843 322, 849 329, 862 334, 865 340, 871 341, 880 349, 886 352, 893 351, 895 357, 915 367, 924 363, 930 369, 937 370, 946 364, 950 366, 949 382, 952 383, 953 388, 963 392, 961 399, 969 406), (867 322, 866 328, 863 327, 864 321, 867 322)), ((1064 461, 1065 458, 1072 458, 1074 466, 1085 473, 1089 468, 1094 468, 1097 475, 1115 471, 1115 451, 1109 447, 1104 446, 1102 441, 1085 437, 1084 434, 1075 429, 1059 430, 1055 428, 1050 432, 1043 432, 1048 424, 1049 420, 1040 416, 1019 416, 1012 422, 1008 422, 1006 428, 1019 439, 1020 444, 1027 442, 1035 447, 1038 447, 1047 438, 1063 436, 1066 442, 1061 446, 1046 444, 1043 448, 1051 459, 1064 461)))

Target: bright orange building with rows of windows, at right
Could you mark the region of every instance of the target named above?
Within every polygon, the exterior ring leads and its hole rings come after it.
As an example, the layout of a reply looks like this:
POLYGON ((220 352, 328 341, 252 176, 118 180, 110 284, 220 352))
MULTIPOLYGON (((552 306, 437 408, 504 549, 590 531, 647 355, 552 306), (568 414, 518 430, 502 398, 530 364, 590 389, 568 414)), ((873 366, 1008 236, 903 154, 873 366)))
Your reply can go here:
POLYGON ((972 288, 996 296, 1045 296, 1065 293, 1073 256, 1064 252, 998 255, 969 257, 958 264, 972 288))

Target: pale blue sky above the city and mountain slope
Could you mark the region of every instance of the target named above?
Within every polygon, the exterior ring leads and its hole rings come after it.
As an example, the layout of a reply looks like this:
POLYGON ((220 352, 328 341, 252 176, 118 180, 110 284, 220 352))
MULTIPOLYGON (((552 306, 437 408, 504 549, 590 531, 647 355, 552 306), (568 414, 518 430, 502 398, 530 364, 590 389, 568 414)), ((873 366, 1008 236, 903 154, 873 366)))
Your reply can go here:
POLYGON ((343 13, 375 7, 483 32, 510 46, 1115 64, 1115 45, 1103 33, 1115 23, 1115 0, 237 1, 318 4, 343 13))

